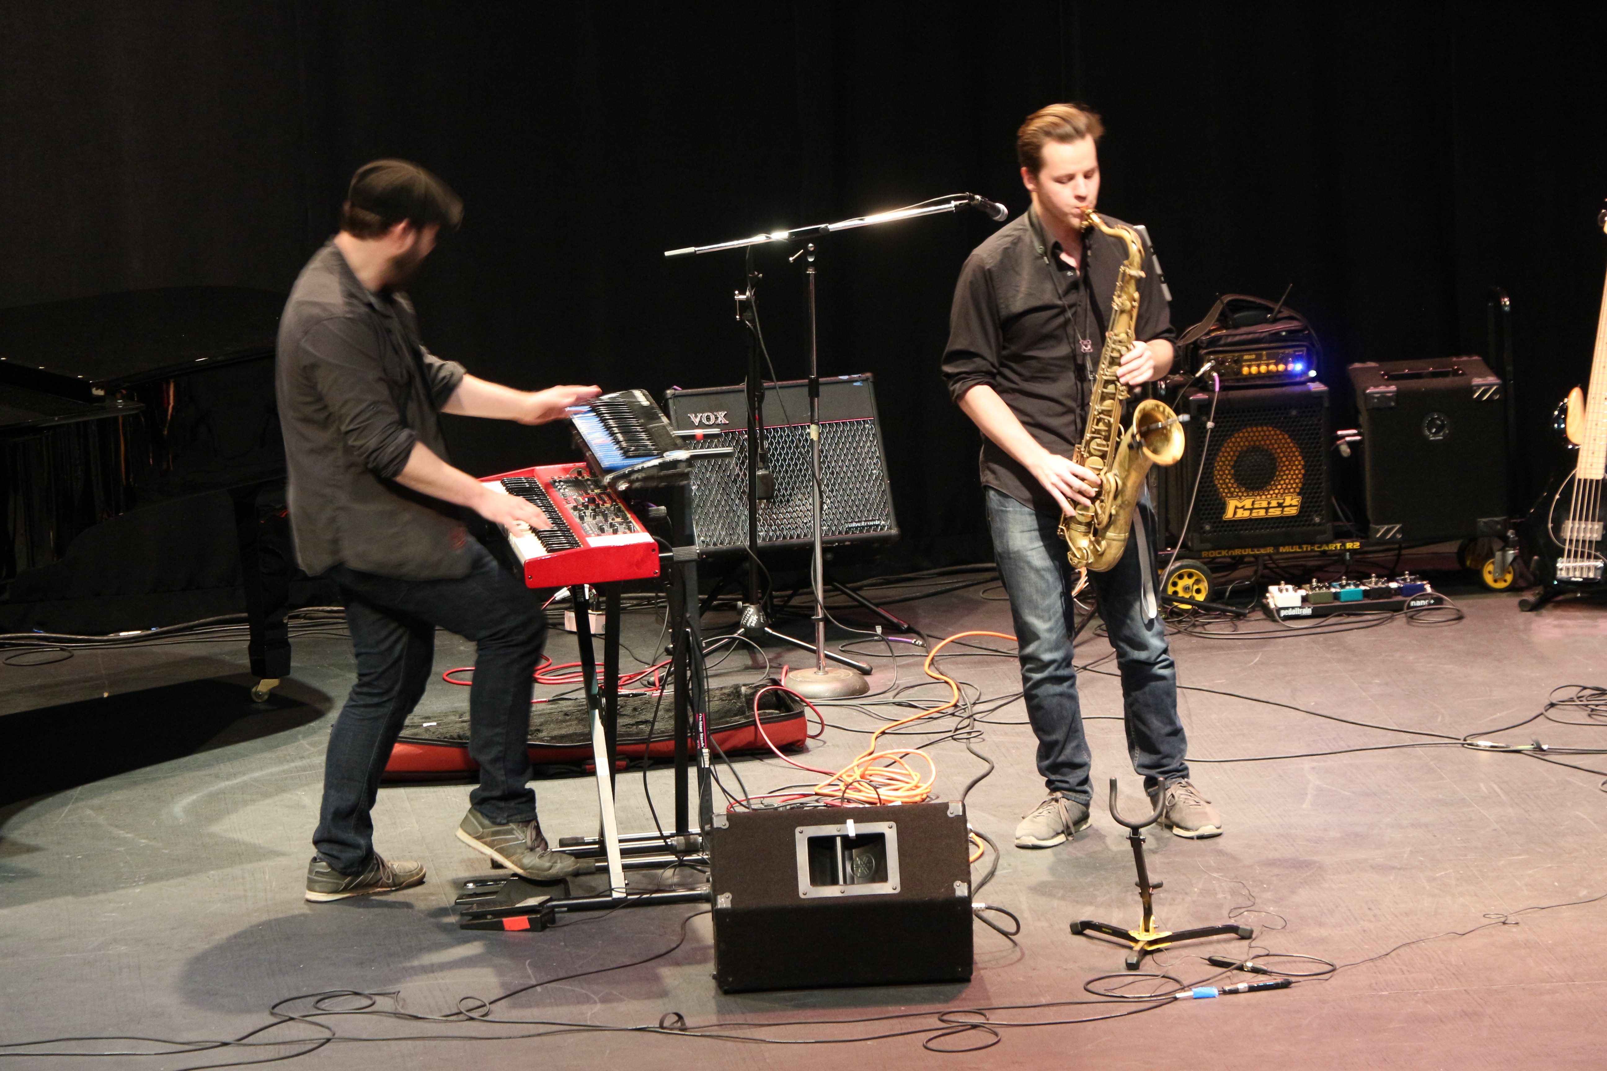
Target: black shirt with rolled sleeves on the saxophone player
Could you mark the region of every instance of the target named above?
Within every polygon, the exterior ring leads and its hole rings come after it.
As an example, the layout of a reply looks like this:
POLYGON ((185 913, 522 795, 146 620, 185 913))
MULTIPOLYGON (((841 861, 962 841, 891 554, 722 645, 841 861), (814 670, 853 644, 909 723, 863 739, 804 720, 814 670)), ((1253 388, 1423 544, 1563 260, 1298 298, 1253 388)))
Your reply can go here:
MULTIPOLYGON (((1033 210, 1001 226, 959 270, 943 350, 950 397, 959 401, 977 384, 993 387, 1028 435, 1049 453, 1070 458, 1083 437, 1088 377, 1104 348, 1125 259, 1122 239, 1088 230, 1078 276, 1059 257, 1059 244, 1046 239, 1033 210)), ((1135 336, 1143 342, 1176 337, 1154 271, 1138 283, 1135 336)), ((985 435, 982 483, 1041 512, 1061 512, 1043 485, 985 435)))

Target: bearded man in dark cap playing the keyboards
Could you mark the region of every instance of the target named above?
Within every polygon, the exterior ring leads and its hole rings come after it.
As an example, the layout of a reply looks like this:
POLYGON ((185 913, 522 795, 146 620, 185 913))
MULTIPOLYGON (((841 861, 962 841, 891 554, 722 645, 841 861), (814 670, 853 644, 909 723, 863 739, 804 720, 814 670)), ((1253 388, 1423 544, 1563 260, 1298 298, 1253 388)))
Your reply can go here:
POLYGON ((596 387, 525 392, 476 379, 419 342, 403 289, 463 206, 405 161, 358 169, 341 231, 302 268, 278 342, 278 401, 296 556, 334 580, 357 654, 357 684, 329 732, 307 899, 391 893, 424 880, 382 859, 370 811, 391 747, 432 676, 435 626, 477 645, 469 755, 480 782, 458 838, 537 880, 567 877, 535 817, 525 750, 530 678, 546 618, 521 578, 469 538, 461 509, 548 527, 532 504, 447 462, 437 413, 545 424, 596 387))

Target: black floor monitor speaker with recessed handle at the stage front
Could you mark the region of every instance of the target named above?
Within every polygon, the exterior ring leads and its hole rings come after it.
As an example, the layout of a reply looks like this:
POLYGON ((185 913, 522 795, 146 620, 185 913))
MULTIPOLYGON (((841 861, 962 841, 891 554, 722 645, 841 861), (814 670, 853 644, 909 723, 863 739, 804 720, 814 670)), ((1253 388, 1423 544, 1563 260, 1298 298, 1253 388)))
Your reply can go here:
POLYGON ((969 854, 959 803, 715 816, 720 991, 966 981, 969 854))

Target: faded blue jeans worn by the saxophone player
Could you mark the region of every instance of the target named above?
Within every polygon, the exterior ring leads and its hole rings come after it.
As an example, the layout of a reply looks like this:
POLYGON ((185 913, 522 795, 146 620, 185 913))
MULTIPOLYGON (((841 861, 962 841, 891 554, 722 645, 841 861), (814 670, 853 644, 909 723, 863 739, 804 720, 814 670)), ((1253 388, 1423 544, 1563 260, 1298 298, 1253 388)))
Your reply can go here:
MULTIPOLYGON (((1049 792, 1088 803, 1093 796, 1088 740, 1072 652, 1077 573, 1065 560, 1065 541, 1057 533, 1061 519, 1038 514, 992 487, 983 491, 993 554, 1016 620, 1027 718, 1038 735, 1038 772, 1049 792)), ((1147 512, 1146 506, 1138 509, 1147 512)), ((1139 523, 1139 515, 1133 522, 1139 523)), ((1141 562, 1138 541, 1130 540, 1115 568, 1090 570, 1088 583, 1122 673, 1127 750, 1147 790, 1188 777, 1189 768, 1183 761, 1188 740, 1178 721, 1176 668, 1167 633, 1159 617, 1144 621, 1143 568, 1154 568, 1154 562, 1141 562)))

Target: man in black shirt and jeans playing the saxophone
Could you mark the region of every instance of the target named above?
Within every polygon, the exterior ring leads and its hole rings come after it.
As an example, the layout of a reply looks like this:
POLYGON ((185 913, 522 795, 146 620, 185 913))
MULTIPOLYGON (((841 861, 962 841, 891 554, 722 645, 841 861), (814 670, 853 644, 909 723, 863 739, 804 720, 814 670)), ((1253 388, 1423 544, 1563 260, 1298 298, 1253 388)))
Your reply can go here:
MULTIPOLYGON (((1127 252, 1122 241, 1085 230, 1085 212, 1099 199, 1102 133, 1099 116, 1082 104, 1049 104, 1022 124, 1016 154, 1032 207, 966 260, 943 353, 950 397, 983 435, 988 528, 1016 623, 1038 772, 1049 790, 1016 827, 1017 848, 1053 848, 1090 822, 1090 755, 1072 650, 1077 573, 1057 528, 1098 493, 1099 477, 1077 464, 1073 451, 1127 252)), ((1139 279, 1138 295, 1135 344, 1117 376, 1130 387, 1172 369, 1176 337, 1154 273, 1139 279)), ((1141 503, 1135 527, 1147 515, 1141 503)), ((1144 610, 1144 570, 1152 581, 1154 568, 1147 543, 1131 540, 1114 568, 1088 573, 1117 654, 1128 751, 1151 801, 1163 798, 1163 825, 1178 837, 1216 837, 1221 816, 1189 782, 1165 628, 1144 610)))

